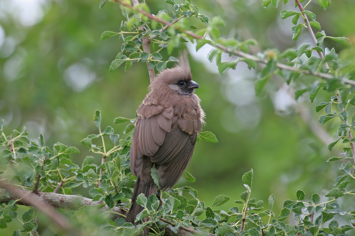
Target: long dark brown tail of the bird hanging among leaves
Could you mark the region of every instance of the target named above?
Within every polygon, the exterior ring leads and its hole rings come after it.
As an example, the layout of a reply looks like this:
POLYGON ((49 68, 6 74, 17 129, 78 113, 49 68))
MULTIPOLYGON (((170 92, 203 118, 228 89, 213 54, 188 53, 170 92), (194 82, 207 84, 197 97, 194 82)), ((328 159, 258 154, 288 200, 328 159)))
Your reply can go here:
POLYGON ((147 180, 141 178, 141 176, 138 176, 137 182, 133 189, 132 206, 128 211, 126 221, 131 222, 134 225, 139 223, 135 223, 135 220, 137 215, 143 210, 143 207, 136 203, 138 195, 144 194, 146 197, 148 197, 157 192, 157 185, 154 184, 153 178, 150 175, 146 177, 148 177, 146 178, 147 180))

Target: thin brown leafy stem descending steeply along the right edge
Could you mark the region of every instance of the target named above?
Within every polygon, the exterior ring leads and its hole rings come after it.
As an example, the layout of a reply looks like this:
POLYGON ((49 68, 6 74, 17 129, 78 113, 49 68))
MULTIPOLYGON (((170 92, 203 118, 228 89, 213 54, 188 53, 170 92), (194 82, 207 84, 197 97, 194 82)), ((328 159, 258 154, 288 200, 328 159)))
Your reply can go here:
MULTIPOLYGON (((297 3, 297 6, 298 8, 300 8, 300 11, 303 12, 305 9, 302 7, 301 3, 300 3, 300 0, 295 0, 296 3, 297 3)), ((311 35, 311 38, 312 38, 312 41, 313 43, 317 46, 317 39, 316 39, 316 36, 315 34, 313 33, 313 30, 311 28, 311 25, 310 25, 310 22, 308 21, 308 18, 306 16, 305 13, 302 13, 302 16, 303 18, 305 19, 305 22, 306 22, 306 25, 307 25, 307 29, 308 29, 308 32, 310 33, 311 35)), ((321 58, 321 60, 324 62, 324 68, 328 69, 328 74, 330 73, 330 70, 329 70, 329 66, 328 66, 328 63, 324 61, 324 55, 321 51, 317 51, 318 54, 319 54, 319 57, 321 58)), ((346 81, 345 81, 346 82, 346 81)), ((335 95, 337 96, 337 99, 338 99, 338 103, 342 103, 342 97, 340 95, 340 92, 339 90, 335 90, 335 95)), ((341 109, 342 112, 345 111, 344 107, 341 109)), ((348 120, 345 120, 344 121, 344 124, 346 126, 349 126, 349 122, 348 120)), ((352 142, 351 140, 353 139, 353 135, 351 134, 351 131, 350 131, 350 127, 346 127, 346 133, 348 134, 348 138, 350 140, 350 148, 351 148, 351 152, 353 154, 353 159, 355 161, 355 145, 354 145, 354 142, 352 142)))

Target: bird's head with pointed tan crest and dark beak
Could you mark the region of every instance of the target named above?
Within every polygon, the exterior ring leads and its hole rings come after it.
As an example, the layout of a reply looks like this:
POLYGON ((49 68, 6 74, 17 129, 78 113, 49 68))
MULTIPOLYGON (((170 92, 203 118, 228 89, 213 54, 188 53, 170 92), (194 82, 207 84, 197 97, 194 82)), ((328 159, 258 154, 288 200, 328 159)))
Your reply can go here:
POLYGON ((179 62, 173 68, 160 71, 150 85, 152 91, 158 89, 189 95, 195 88, 200 87, 192 80, 187 51, 180 53, 178 60, 179 62))

